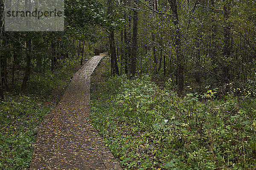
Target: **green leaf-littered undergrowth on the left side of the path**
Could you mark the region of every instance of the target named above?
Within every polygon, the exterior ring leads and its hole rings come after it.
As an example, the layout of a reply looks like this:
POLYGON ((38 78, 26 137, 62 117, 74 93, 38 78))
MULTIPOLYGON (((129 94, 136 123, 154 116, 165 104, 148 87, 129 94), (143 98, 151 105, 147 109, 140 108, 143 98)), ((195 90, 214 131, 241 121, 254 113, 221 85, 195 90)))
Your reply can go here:
POLYGON ((26 93, 5 94, 5 102, 0 102, 0 170, 29 167, 36 140, 33 129, 55 107, 76 68, 67 64, 53 73, 33 73, 26 93))

